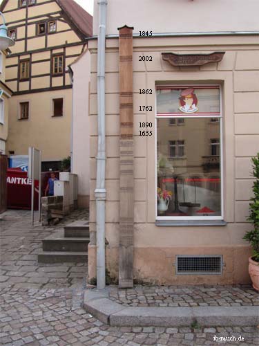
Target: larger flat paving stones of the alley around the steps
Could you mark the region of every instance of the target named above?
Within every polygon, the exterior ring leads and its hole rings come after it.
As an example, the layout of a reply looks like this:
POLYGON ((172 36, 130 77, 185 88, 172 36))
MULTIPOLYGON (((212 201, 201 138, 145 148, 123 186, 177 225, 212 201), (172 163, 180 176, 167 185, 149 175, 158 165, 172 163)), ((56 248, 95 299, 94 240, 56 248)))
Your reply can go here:
MULTIPOLYGON (((75 210, 57 226, 30 224, 29 210, 8 210, 0 221, 1 287, 41 289, 77 286, 86 276, 85 264, 38 264, 37 254, 42 250, 41 240, 77 219, 88 219, 87 210, 75 210)), ((35 215, 37 221, 37 213, 35 215)))

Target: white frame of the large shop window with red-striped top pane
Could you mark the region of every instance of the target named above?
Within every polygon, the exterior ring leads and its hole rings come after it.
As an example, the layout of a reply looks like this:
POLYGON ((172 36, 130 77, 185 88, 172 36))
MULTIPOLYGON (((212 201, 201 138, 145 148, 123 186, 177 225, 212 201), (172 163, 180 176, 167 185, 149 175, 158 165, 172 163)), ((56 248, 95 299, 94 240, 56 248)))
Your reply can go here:
MULTIPOLYGON (((190 114, 185 114, 184 116, 182 115, 177 115, 175 118, 219 118, 219 123, 220 123, 220 183, 221 183, 221 215, 220 216, 183 216, 183 217, 178 217, 178 216, 158 216, 157 215, 157 120, 159 119, 169 119, 169 116, 157 116, 157 89, 159 89, 159 84, 157 84, 157 88, 155 89, 155 219, 157 221, 163 220, 163 221, 209 221, 209 220, 224 220, 224 160, 223 160, 223 147, 224 147, 224 141, 223 141, 223 124, 222 124, 222 86, 220 84, 171 84, 171 85, 163 85, 168 86, 170 89, 171 87, 173 88, 188 88, 193 86, 210 86, 210 87, 215 87, 218 88, 220 91, 220 114, 218 113, 210 113, 208 116, 193 116, 190 114)), ((217 122, 218 123, 218 122, 217 122)))

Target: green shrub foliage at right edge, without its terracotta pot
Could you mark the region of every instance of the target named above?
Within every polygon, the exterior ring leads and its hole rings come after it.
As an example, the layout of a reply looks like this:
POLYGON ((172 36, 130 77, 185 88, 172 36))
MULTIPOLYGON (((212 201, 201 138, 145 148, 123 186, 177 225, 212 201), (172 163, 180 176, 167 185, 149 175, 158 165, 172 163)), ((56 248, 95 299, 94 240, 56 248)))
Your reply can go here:
POLYGON ((247 221, 253 224, 253 230, 247 231, 243 239, 251 244, 253 250, 252 258, 259 264, 259 153, 252 158, 252 161, 255 181, 253 182, 253 197, 249 203, 249 217, 247 217, 247 221))

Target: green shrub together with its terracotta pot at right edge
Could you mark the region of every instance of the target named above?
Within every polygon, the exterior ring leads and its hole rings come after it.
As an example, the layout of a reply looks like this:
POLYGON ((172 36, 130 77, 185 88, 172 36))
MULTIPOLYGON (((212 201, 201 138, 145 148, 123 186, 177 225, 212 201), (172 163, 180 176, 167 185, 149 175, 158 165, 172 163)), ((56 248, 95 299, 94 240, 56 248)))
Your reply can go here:
POLYGON ((249 275, 253 282, 253 288, 259 291, 259 153, 252 158, 253 161, 253 197, 249 203, 248 221, 253 224, 253 230, 244 235, 252 247, 252 256, 249 257, 249 275))

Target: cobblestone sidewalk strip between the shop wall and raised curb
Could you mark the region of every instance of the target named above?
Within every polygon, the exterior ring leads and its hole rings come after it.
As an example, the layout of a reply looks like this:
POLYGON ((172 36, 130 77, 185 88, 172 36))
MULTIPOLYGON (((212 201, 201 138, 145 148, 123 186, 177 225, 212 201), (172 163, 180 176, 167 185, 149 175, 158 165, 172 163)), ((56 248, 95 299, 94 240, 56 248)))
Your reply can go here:
MULTIPOLYGON (((109 297, 131 307, 238 307, 259 306, 259 295, 252 286, 110 286, 109 297)), ((259 308, 258 308, 259 309, 259 308)))

